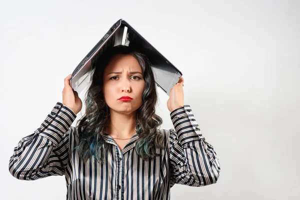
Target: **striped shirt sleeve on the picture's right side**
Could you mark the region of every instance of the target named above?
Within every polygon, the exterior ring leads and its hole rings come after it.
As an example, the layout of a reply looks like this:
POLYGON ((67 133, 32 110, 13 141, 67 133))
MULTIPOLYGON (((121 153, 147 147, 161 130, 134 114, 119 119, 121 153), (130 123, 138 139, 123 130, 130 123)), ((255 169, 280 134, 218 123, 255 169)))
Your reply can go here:
POLYGON ((169 137, 170 186, 216 183, 220 165, 213 146, 205 141, 189 105, 173 110, 169 137))

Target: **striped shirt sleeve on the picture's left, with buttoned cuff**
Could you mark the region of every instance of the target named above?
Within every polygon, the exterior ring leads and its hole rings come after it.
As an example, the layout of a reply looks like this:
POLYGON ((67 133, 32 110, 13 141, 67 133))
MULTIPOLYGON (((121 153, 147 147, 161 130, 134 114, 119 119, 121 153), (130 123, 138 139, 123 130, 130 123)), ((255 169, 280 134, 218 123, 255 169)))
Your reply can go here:
POLYGON ((11 175, 21 180, 35 180, 63 175, 69 159, 69 133, 76 114, 57 102, 32 134, 23 137, 9 159, 11 175))

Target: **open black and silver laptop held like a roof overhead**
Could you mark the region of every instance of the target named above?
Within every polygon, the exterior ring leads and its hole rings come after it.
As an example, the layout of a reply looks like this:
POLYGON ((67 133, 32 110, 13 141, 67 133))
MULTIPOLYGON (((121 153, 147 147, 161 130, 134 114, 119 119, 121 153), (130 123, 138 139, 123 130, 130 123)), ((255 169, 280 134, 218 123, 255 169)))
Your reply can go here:
POLYGON ((80 94, 87 88, 91 83, 91 72, 97 58, 105 50, 118 45, 130 46, 144 53, 151 62, 156 85, 169 95, 171 88, 178 82, 182 73, 123 19, 112 24, 106 34, 73 70, 70 77, 73 90, 80 94))

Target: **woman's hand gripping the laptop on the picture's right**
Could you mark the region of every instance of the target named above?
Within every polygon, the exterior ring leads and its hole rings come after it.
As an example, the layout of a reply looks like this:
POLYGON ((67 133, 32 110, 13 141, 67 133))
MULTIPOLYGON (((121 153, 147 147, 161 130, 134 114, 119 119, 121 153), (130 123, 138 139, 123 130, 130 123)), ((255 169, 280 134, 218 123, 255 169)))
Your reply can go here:
POLYGON ((183 107, 184 94, 183 94, 183 77, 181 76, 176 84, 171 88, 169 99, 166 102, 168 110, 171 112, 176 108, 183 107))

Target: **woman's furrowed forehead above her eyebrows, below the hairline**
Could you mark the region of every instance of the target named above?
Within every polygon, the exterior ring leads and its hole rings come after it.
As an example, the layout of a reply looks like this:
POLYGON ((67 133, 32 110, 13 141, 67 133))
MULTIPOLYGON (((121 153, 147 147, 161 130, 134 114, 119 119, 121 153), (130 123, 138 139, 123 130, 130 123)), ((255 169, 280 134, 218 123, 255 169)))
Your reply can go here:
POLYGON ((137 70, 141 72, 141 67, 135 57, 129 54, 116 54, 109 60, 104 72, 122 71, 122 70, 137 70))

